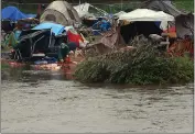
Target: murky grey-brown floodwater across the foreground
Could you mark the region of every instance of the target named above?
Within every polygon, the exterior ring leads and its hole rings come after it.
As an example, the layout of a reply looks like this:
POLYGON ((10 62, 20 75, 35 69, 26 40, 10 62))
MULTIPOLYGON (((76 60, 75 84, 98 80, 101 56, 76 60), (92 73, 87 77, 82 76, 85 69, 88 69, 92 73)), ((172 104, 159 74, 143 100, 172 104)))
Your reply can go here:
POLYGON ((11 70, 1 83, 2 133, 192 133, 194 83, 82 85, 59 72, 11 70))

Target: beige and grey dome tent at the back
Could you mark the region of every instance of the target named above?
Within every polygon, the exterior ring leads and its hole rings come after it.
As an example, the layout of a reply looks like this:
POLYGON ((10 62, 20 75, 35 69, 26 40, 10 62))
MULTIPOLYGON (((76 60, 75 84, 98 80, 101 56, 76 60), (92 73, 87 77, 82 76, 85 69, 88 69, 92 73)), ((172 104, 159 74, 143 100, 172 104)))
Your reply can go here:
POLYGON ((73 25, 80 22, 77 11, 66 1, 53 1, 44 10, 41 22, 52 21, 62 25, 73 25))

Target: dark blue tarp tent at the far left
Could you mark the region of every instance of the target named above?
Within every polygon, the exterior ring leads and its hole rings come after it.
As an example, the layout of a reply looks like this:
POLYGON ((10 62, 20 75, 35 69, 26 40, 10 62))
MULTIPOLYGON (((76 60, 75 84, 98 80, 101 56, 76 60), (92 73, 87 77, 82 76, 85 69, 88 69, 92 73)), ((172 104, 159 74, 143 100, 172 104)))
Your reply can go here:
POLYGON ((7 7, 1 10, 1 20, 9 19, 12 21, 18 21, 21 19, 35 18, 35 16, 36 16, 35 14, 25 14, 15 7, 7 7))

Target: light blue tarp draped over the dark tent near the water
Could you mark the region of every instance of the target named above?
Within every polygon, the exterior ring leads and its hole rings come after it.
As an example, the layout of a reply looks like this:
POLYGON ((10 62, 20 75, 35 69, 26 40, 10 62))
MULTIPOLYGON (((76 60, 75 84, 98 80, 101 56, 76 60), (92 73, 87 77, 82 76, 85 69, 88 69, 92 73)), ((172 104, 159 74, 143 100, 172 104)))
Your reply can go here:
POLYGON ((65 26, 52 22, 43 22, 36 25, 35 27, 33 27, 32 30, 45 30, 45 29, 52 29, 52 32, 55 35, 59 35, 64 31, 65 26))

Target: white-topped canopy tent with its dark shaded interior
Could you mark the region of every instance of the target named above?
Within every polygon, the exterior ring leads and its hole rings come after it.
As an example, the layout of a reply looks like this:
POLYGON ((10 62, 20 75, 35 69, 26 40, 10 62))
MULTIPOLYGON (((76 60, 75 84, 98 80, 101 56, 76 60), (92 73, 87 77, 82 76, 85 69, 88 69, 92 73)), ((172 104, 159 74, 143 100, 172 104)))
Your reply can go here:
POLYGON ((128 44, 137 35, 143 34, 148 37, 150 34, 161 35, 162 30, 156 22, 174 21, 174 16, 163 11, 153 11, 149 9, 137 9, 129 13, 121 14, 119 20, 126 20, 133 23, 121 26, 120 33, 128 44), (138 15, 139 14, 139 15, 138 15))

